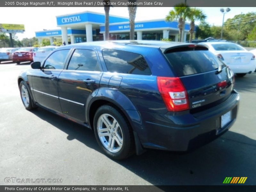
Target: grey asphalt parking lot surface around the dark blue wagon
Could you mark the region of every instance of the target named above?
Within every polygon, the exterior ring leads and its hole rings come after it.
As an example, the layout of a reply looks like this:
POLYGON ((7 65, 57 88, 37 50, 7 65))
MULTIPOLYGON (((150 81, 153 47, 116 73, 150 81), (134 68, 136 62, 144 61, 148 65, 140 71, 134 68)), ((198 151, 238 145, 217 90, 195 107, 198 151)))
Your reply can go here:
MULTIPOLYGON (((104 156, 91 130, 42 108, 25 110, 17 77, 29 63, 0 64, 0 184, 4 178, 62 179, 61 185, 221 185, 248 177, 256 185, 256 73, 236 78, 236 123, 187 154, 150 150, 125 161, 104 156)), ((28 183, 33 184, 33 183, 28 183)))

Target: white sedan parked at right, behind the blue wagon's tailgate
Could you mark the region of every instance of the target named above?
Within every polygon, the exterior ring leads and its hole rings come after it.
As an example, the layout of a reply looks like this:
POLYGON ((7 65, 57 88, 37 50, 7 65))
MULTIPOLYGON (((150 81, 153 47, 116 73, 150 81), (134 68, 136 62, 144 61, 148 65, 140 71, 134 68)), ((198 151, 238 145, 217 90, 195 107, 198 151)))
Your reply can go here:
POLYGON ((231 68, 237 76, 245 76, 255 71, 255 56, 238 44, 221 41, 199 44, 207 46, 209 51, 231 68))

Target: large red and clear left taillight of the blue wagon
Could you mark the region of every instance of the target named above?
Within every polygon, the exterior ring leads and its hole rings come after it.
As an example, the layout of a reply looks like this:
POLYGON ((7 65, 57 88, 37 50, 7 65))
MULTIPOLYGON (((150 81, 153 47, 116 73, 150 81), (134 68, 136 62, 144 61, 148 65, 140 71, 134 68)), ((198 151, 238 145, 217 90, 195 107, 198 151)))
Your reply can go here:
POLYGON ((157 77, 157 86, 168 111, 189 109, 187 90, 179 77, 157 77))

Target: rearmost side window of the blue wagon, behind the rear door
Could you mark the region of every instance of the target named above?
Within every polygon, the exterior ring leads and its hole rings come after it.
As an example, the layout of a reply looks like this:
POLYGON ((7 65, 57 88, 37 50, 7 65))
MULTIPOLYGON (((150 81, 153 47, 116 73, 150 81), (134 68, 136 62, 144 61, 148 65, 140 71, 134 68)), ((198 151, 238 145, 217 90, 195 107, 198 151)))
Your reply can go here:
POLYGON ((151 75, 151 71, 146 60, 139 54, 104 49, 102 51, 102 55, 109 72, 151 75))

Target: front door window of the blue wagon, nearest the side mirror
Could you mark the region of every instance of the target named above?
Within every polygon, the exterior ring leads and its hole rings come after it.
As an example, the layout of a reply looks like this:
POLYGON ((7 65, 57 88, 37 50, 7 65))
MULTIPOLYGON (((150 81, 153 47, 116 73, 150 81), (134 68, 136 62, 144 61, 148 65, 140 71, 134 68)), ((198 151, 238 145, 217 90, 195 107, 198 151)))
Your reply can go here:
POLYGON ((53 52, 44 62, 44 69, 63 69, 69 49, 53 52))

